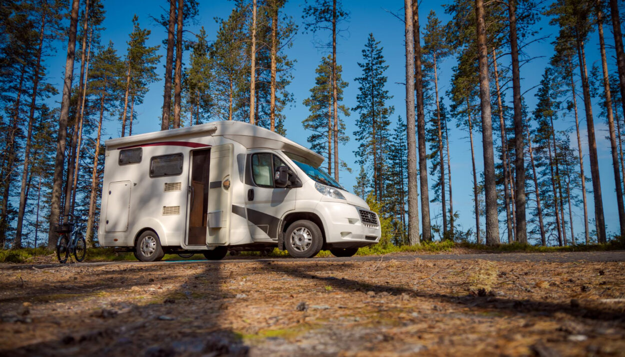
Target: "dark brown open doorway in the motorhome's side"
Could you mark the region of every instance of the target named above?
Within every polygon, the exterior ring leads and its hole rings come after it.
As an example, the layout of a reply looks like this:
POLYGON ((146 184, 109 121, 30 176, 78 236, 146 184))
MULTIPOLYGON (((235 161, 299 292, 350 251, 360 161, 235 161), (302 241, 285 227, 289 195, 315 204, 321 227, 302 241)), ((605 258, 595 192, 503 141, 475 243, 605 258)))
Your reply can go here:
POLYGON ((211 149, 191 152, 187 245, 206 245, 211 149))

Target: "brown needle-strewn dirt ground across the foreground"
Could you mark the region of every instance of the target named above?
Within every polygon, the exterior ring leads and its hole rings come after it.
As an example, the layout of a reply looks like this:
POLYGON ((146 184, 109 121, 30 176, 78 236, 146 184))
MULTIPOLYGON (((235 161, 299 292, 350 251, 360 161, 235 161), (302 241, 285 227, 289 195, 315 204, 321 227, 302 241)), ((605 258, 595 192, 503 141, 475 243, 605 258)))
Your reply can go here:
POLYGON ((622 255, 451 258, 2 267, 0 355, 625 356, 622 255))

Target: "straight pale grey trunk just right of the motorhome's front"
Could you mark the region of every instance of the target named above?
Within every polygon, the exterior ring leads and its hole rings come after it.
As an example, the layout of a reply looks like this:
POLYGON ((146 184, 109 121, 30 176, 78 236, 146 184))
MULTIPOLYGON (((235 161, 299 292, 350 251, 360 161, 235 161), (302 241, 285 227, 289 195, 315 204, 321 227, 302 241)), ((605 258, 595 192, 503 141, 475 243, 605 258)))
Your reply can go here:
MULTIPOLYGON (((412 0, 404 0, 404 36, 406 37, 406 144, 408 163, 408 239, 419 245, 419 204, 417 203, 417 143, 414 120, 414 29, 412 0)), ((418 31, 418 30, 417 30, 418 31)))

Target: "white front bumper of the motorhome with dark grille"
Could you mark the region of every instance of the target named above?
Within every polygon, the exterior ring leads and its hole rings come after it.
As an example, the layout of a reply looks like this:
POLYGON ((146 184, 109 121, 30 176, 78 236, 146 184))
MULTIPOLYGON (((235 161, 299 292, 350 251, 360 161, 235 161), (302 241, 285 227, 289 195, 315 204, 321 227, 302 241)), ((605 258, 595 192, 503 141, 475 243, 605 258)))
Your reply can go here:
POLYGON ((325 218, 326 243, 329 247, 365 247, 380 240, 382 232, 379 218, 371 210, 337 202, 320 202, 317 210, 325 218))

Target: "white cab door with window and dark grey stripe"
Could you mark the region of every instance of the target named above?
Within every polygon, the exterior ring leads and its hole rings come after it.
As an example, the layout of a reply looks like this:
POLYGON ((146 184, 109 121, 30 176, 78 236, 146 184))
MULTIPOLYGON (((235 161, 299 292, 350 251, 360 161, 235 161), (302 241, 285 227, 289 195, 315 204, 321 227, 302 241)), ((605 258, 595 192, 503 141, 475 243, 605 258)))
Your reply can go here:
POLYGON ((247 154, 246 213, 249 232, 254 241, 277 240, 280 219, 286 212, 295 209, 296 189, 274 185, 279 166, 289 167, 271 152, 247 154))

